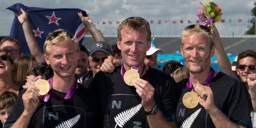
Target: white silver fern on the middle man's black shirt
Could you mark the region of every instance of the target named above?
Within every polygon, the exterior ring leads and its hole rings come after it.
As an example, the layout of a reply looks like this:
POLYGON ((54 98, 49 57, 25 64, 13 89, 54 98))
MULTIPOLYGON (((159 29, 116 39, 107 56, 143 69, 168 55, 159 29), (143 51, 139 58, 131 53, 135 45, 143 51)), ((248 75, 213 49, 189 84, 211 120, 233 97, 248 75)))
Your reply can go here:
POLYGON ((142 107, 142 105, 139 104, 137 106, 132 107, 129 110, 125 110, 125 111, 122 111, 119 114, 117 114, 117 116, 114 117, 114 119, 116 121, 115 128, 117 127, 117 125, 119 127, 124 127, 126 122, 128 122, 135 114, 137 114, 137 112, 140 111, 141 107, 142 107))

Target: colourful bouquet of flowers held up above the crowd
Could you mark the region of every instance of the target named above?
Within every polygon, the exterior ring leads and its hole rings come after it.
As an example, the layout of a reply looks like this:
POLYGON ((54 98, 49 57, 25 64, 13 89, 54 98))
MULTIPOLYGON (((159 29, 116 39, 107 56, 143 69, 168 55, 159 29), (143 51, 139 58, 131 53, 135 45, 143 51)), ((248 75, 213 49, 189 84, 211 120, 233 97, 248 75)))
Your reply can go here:
MULTIPOLYGON (((221 9, 214 2, 201 3, 198 9, 199 21, 203 23, 204 26, 210 24, 210 21, 219 22, 221 20, 221 9)), ((212 26, 210 26, 212 28, 212 26)))

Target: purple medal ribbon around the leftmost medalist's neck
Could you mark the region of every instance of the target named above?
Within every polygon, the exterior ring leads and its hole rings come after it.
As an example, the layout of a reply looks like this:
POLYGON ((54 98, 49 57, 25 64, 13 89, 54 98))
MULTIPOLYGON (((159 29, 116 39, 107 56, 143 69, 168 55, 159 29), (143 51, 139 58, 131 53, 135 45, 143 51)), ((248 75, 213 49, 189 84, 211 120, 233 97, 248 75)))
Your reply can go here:
MULTIPOLYGON (((35 80, 37 81, 38 78, 35 80)), ((65 100, 65 99, 70 99, 73 95, 73 93, 76 91, 76 87, 77 87, 77 83, 76 83, 76 80, 74 82, 74 84, 72 85, 72 87, 70 88, 70 90, 68 90, 66 96, 64 98, 56 95, 56 93, 54 93, 52 91, 52 80, 53 80, 53 77, 51 77, 48 82, 50 83, 50 91, 45 95, 45 98, 43 99, 43 101, 47 102, 48 99, 50 98, 50 96, 52 96, 54 99, 56 100, 65 100)), ((39 97, 40 101, 42 101, 42 96, 39 97)))

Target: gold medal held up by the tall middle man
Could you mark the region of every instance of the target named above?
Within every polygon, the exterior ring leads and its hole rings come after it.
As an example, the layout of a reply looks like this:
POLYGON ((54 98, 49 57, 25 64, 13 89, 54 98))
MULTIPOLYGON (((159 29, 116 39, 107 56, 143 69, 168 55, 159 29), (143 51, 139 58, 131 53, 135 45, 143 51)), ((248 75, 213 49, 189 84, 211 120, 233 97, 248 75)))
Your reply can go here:
POLYGON ((124 81, 127 85, 129 86, 134 86, 135 85, 135 81, 140 78, 140 75, 138 73, 138 70, 134 69, 131 67, 130 70, 125 72, 124 75, 124 81))

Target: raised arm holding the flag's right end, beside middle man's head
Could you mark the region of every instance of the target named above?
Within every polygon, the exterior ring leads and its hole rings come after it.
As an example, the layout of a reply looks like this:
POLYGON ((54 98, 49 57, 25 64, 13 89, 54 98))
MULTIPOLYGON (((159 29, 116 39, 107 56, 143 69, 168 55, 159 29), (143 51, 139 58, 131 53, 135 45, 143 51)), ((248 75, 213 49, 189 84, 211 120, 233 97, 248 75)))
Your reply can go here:
POLYGON ((101 33, 98 31, 98 29, 95 26, 93 26, 92 20, 90 17, 88 17, 88 14, 85 17, 85 16, 83 16, 83 14, 81 12, 78 12, 78 16, 80 17, 82 23, 87 27, 88 31, 91 33, 95 42, 98 42, 98 41, 107 42, 107 40, 101 35, 101 33))

